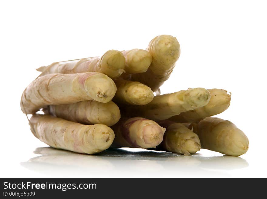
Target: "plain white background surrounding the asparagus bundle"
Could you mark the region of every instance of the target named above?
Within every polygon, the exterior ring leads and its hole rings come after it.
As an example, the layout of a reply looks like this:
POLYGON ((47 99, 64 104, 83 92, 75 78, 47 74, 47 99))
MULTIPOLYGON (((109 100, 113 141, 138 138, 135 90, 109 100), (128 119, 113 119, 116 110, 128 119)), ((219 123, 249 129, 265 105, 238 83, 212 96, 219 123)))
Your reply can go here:
POLYGON ((0 177, 267 177, 265 1, 1 1, 0 177), (157 35, 178 39, 181 56, 162 93, 223 88, 218 117, 248 136, 241 157, 201 149, 194 156, 107 151, 90 156, 43 148, 20 110, 35 68, 145 49, 157 35))

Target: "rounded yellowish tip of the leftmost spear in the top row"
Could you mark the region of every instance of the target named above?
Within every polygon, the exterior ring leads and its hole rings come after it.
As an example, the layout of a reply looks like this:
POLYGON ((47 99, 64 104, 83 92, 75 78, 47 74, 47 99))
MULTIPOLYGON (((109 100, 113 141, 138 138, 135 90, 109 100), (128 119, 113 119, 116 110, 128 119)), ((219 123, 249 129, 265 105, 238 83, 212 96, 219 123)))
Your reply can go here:
POLYGON ((100 68, 104 74, 109 74, 110 78, 119 77, 124 71, 125 58, 122 52, 109 50, 101 57, 100 68))

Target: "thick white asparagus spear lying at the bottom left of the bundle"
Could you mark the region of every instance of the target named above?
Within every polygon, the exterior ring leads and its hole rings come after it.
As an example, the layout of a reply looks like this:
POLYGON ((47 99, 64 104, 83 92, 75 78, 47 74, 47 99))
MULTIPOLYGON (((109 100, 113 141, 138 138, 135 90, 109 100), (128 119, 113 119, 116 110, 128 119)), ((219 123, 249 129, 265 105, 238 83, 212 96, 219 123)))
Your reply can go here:
POLYGON ((50 115, 34 114, 31 131, 51 147, 78 153, 95 154, 110 147, 115 137, 104 124, 83 125, 50 115))

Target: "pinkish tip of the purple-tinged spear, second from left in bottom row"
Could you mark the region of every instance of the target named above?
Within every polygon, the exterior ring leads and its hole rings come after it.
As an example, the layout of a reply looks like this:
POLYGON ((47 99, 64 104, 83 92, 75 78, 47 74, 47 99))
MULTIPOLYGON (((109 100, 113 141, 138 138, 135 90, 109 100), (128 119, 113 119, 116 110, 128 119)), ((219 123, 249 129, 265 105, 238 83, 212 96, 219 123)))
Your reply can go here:
POLYGON ((152 147, 159 145, 163 139, 165 128, 157 124, 147 124, 143 127, 144 144, 152 147))

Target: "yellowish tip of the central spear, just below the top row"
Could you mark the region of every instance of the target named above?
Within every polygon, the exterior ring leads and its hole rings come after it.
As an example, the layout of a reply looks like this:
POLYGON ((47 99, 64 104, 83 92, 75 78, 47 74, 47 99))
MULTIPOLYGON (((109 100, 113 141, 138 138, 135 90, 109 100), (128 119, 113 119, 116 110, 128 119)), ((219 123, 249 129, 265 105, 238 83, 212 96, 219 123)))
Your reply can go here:
POLYGON ((127 95, 132 104, 145 105, 153 100, 154 94, 151 89, 144 84, 133 84, 127 90, 127 95))

